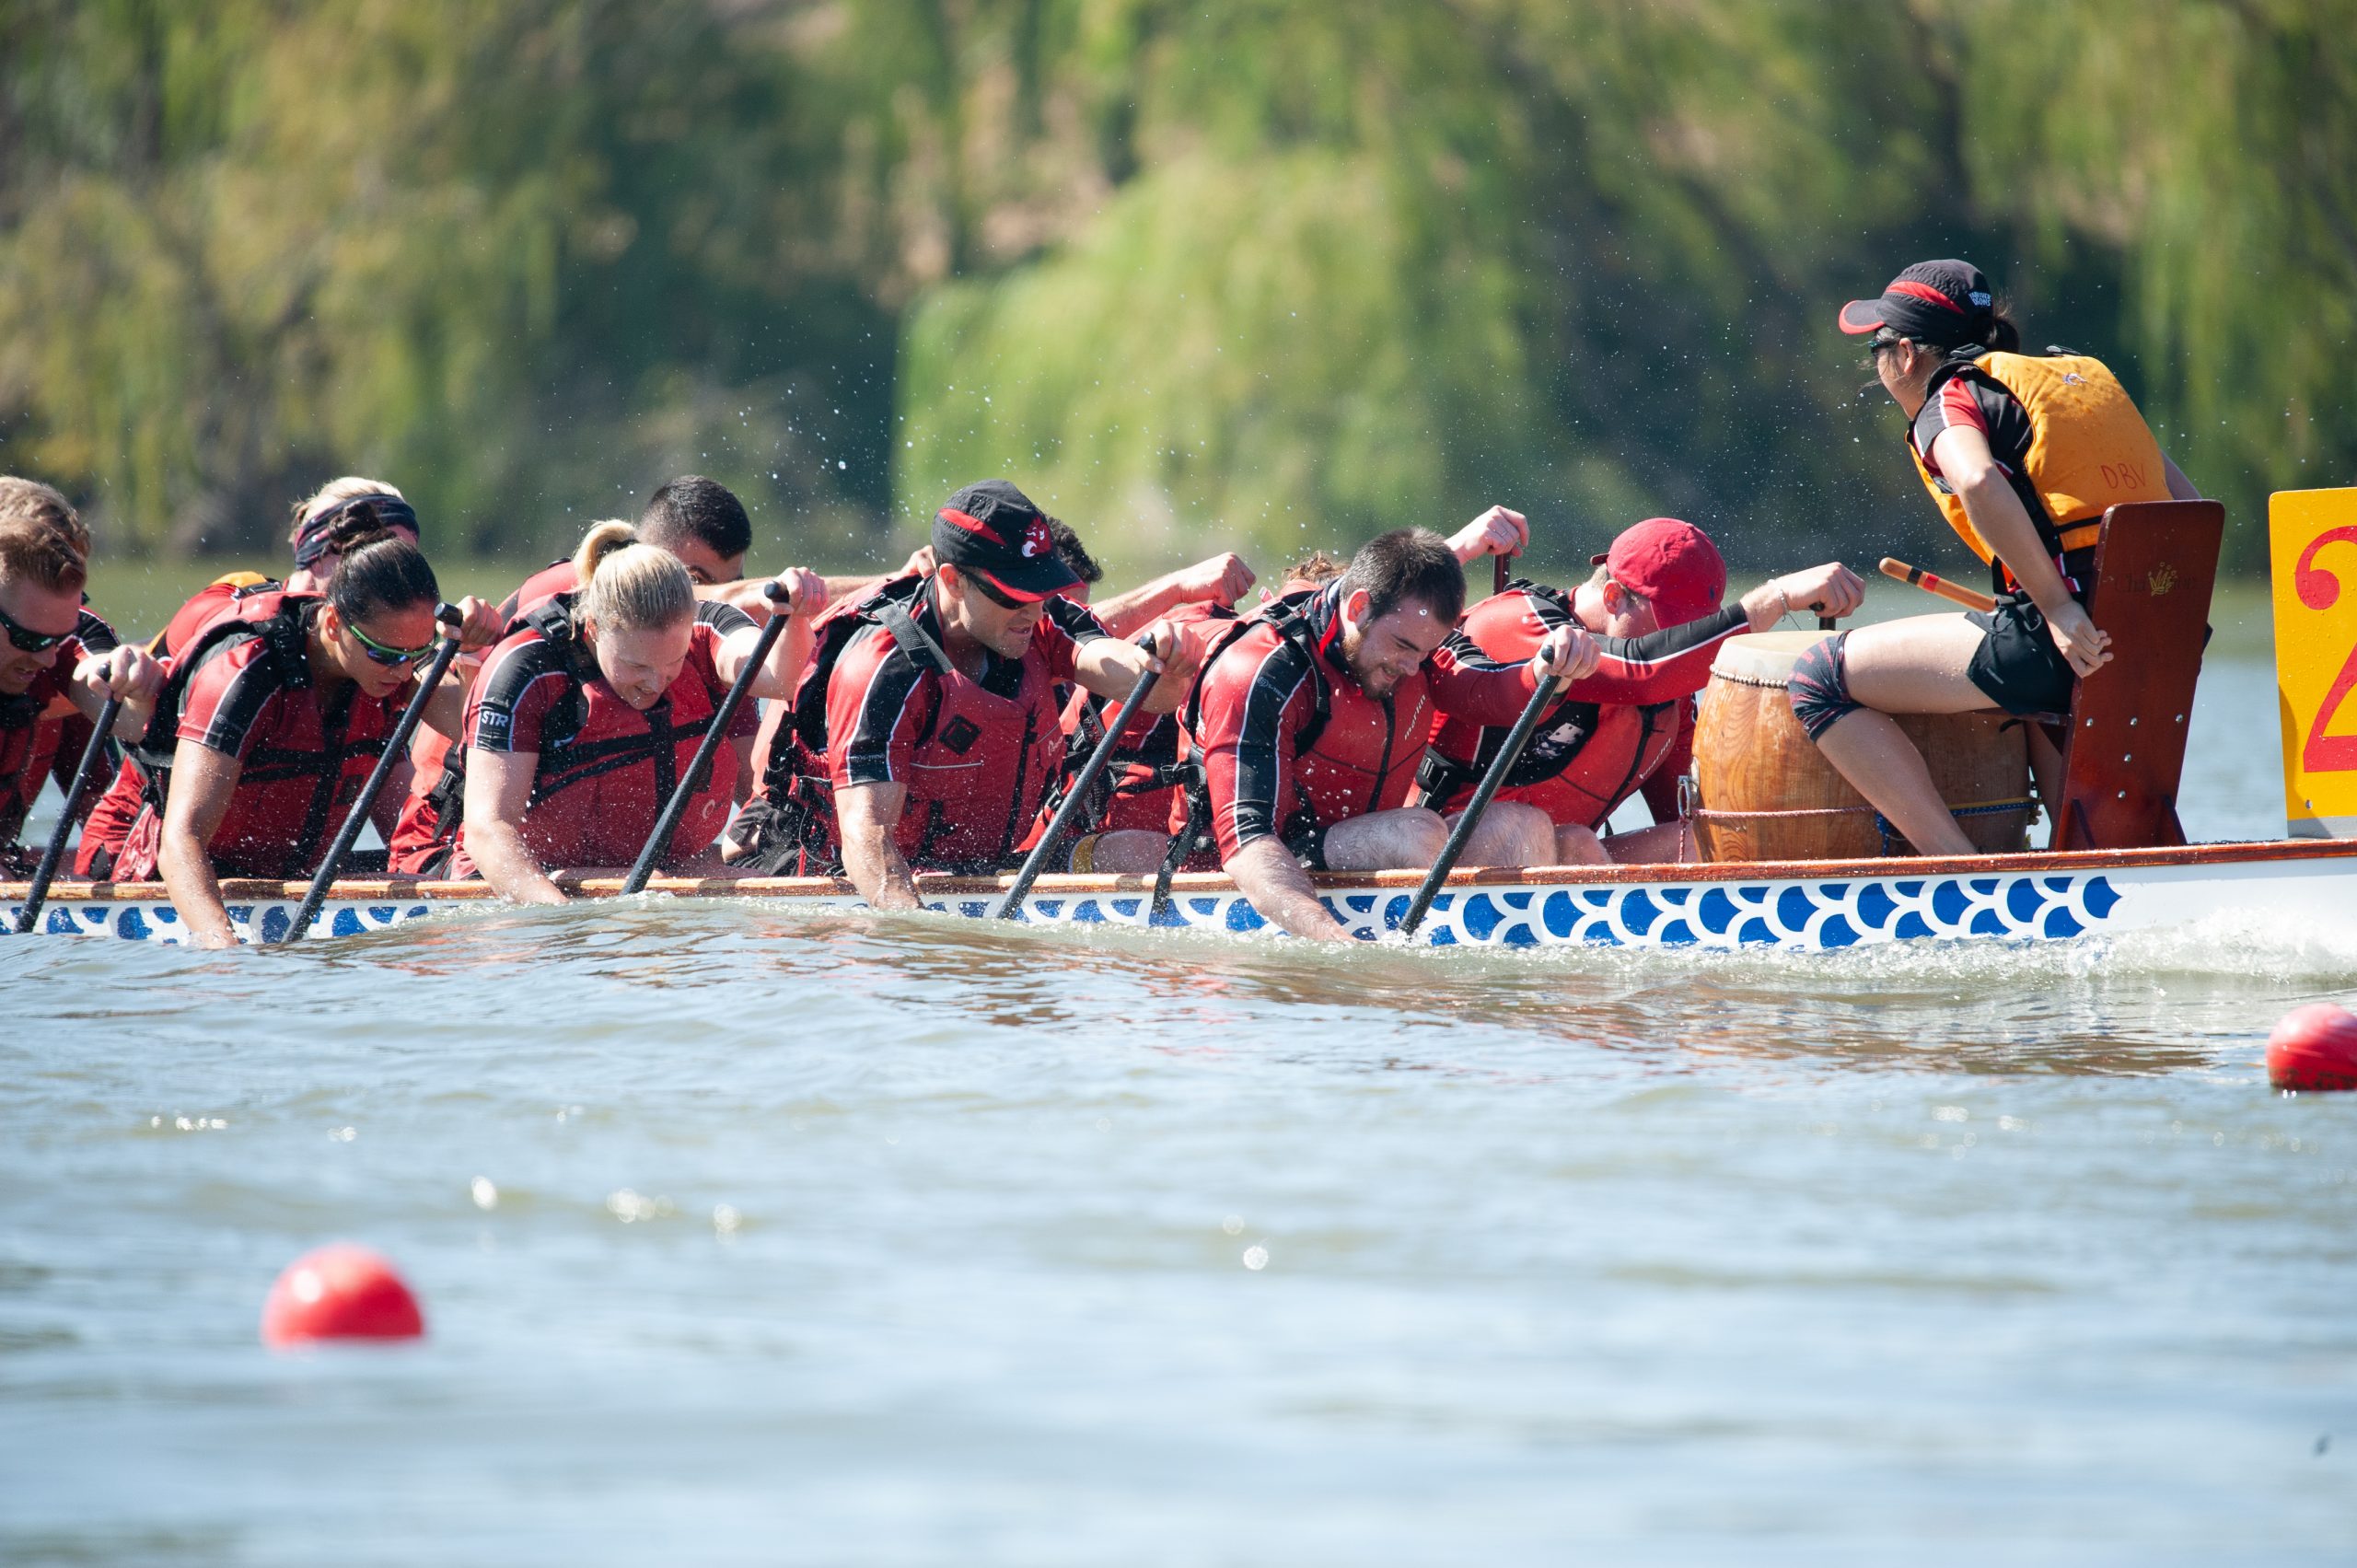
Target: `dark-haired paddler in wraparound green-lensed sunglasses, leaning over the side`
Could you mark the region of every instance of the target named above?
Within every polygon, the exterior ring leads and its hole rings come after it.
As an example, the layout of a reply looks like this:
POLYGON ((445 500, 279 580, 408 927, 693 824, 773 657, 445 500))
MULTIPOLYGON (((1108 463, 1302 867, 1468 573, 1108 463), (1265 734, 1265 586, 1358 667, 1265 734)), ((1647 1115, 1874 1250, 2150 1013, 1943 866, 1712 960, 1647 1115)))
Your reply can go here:
MULTIPOLYGON (((408 540, 344 556, 325 597, 283 589, 229 601, 167 663, 170 679, 111 821, 92 816, 78 870, 163 875, 191 938, 236 943, 219 877, 304 877, 342 828, 436 641, 434 568, 408 540)), ((443 686, 427 722, 457 724, 443 686)), ((391 832, 389 795, 377 830, 391 832)))

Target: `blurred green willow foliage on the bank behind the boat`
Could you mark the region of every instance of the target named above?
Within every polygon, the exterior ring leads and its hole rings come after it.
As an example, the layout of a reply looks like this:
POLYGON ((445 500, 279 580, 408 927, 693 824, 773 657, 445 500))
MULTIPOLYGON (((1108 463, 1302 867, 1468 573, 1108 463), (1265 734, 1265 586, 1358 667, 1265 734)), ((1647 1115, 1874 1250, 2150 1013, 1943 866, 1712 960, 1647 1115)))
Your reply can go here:
MULTIPOLYGON (((1952 559, 1834 307, 1968 255, 2260 559, 2357 481, 2357 0, 0 0, 0 467, 273 552, 662 476, 1124 568, 1492 500, 1952 559)), ((443 521, 448 519, 448 521, 443 521)), ((448 535, 441 533, 448 528, 448 535)))

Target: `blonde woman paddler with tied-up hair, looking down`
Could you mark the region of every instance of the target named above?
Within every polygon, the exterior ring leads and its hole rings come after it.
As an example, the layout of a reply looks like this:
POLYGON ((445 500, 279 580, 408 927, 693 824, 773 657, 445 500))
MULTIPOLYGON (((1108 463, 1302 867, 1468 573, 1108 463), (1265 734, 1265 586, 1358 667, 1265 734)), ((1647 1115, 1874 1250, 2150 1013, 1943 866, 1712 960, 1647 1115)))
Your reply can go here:
MULTIPOLYGON (((450 875, 481 870, 507 898, 563 903, 542 868, 629 865, 761 634, 745 611, 698 601, 679 556, 599 523, 573 566, 585 587, 526 613, 467 700, 467 806, 450 875)), ((787 630, 747 689, 790 700, 827 585, 778 573, 787 630)), ((712 846, 750 780, 759 712, 745 703, 672 842, 676 868, 712 846)), ((396 844, 394 854, 403 846, 396 844)), ((714 856, 717 868, 717 856, 714 856)))

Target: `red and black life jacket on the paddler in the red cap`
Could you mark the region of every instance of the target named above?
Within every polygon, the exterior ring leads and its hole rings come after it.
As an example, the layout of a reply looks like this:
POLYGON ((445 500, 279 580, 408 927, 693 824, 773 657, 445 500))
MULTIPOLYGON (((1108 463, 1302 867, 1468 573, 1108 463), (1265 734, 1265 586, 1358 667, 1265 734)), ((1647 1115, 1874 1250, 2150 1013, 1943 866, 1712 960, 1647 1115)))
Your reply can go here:
MULTIPOLYGON (((1464 632, 1499 663, 1534 655, 1546 632, 1572 620, 1563 589, 1516 578, 1504 594, 1483 599, 1464 632), (1539 632, 1523 622, 1516 594, 1527 597, 1539 632)), ((1499 799, 1541 806, 1556 823, 1600 828, 1676 750, 1685 698, 1666 703, 1563 703, 1532 731, 1523 757, 1506 773, 1499 799)), ((1417 769, 1417 804, 1452 811, 1497 762, 1506 731, 1471 719, 1442 719, 1417 769)))

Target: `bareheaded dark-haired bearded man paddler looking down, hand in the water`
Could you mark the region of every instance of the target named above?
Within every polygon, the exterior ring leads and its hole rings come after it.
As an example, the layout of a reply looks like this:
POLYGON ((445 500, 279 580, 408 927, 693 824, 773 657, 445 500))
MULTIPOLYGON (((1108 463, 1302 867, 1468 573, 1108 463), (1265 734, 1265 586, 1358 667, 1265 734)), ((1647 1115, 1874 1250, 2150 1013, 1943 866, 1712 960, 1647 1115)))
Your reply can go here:
MULTIPOLYGON (((1487 660, 1454 630, 1464 594, 1450 542, 1400 528, 1204 655, 1183 707, 1202 778, 1174 828, 1193 842, 1207 825, 1221 865, 1285 931, 1348 941, 1310 870, 1424 868, 1440 854, 1447 821, 1407 799, 1435 714, 1513 724, 1539 681, 1596 665, 1577 625, 1553 627, 1530 660, 1487 660)), ((1553 865, 1553 823, 1523 802, 1492 806, 1464 863, 1553 865)))

